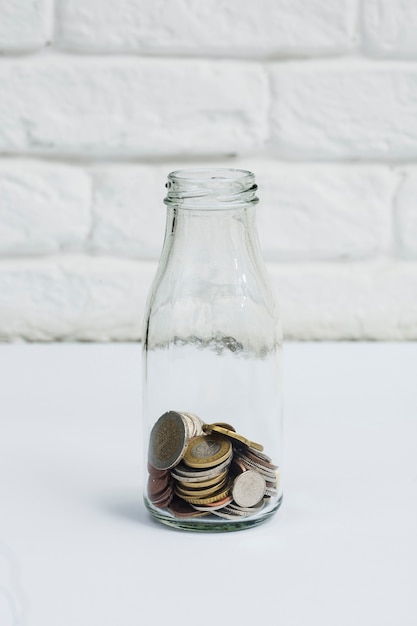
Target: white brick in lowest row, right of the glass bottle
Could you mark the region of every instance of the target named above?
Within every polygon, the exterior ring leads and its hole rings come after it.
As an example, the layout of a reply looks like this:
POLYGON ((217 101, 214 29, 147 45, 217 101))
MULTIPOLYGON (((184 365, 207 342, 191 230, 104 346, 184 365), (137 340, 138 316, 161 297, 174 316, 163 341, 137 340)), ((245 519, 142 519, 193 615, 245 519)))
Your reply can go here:
POLYGON ((269 265, 284 337, 417 339, 417 263, 269 265))

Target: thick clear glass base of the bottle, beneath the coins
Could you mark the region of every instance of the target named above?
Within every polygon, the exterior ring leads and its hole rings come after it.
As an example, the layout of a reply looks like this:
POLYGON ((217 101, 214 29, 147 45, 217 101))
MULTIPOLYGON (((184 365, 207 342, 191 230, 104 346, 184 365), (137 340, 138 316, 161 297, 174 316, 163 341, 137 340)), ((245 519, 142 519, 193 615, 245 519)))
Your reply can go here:
MULTIPOLYGON (((257 515, 253 515, 251 517, 246 517, 243 519, 237 520, 225 520, 225 519, 205 519, 205 518, 197 518, 197 519, 181 519, 176 518, 165 512, 164 509, 157 509, 154 507, 145 497, 144 502, 145 506, 152 515, 152 517, 164 524, 165 526, 170 526, 171 528, 176 528, 178 530, 188 530, 192 532, 235 532, 238 530, 245 530, 247 528, 253 528, 254 526, 258 526, 259 524, 263 524, 270 520, 275 513, 278 511, 282 504, 283 496, 276 501, 276 503, 267 510, 262 510, 257 515)), ((214 517, 214 516, 213 516, 214 517)))

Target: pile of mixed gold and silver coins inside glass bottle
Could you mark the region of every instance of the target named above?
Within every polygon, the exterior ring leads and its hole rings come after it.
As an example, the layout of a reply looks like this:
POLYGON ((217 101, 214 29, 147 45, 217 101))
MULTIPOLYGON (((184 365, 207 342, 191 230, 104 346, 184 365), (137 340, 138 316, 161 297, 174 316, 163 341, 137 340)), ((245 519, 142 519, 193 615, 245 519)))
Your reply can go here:
POLYGON ((278 466, 223 422, 168 411, 152 428, 148 497, 178 518, 248 517, 278 493, 278 466))

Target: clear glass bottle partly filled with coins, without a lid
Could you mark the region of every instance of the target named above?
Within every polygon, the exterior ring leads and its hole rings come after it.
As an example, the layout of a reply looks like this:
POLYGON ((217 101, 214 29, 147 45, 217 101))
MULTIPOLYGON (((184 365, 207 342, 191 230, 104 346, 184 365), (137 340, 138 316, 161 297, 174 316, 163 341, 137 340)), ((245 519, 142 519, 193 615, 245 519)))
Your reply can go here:
POLYGON ((254 175, 168 176, 165 241, 143 327, 144 500, 169 526, 240 530, 282 501, 277 301, 254 175))

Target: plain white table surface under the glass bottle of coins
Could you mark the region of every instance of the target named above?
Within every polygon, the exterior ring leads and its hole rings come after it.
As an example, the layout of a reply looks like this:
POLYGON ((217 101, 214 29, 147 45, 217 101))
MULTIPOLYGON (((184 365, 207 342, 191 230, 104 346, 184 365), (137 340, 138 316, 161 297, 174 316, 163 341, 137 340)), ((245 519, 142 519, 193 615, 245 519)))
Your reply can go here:
POLYGON ((284 502, 150 519, 140 346, 0 345, 0 625, 417 624, 417 343, 287 343, 284 502))

